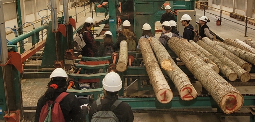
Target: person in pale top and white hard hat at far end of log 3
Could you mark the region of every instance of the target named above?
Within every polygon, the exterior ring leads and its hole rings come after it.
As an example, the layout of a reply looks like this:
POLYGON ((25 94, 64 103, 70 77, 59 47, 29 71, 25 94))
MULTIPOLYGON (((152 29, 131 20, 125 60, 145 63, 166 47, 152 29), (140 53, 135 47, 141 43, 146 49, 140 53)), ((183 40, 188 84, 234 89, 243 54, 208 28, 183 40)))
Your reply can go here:
POLYGON ((172 37, 178 37, 175 33, 170 32, 171 24, 168 21, 165 21, 161 25, 162 27, 162 35, 159 37, 159 41, 162 43, 162 45, 167 49, 170 50, 170 48, 167 45, 167 42, 172 37))

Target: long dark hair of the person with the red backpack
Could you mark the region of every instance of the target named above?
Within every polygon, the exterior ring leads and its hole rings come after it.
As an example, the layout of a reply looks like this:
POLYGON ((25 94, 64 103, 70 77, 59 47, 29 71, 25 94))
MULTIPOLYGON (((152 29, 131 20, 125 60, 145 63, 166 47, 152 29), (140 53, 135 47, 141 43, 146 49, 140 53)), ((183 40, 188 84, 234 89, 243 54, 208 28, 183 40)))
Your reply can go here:
POLYGON ((47 85, 47 90, 43 96, 43 101, 47 102, 49 100, 54 101, 59 95, 56 93, 62 93, 66 90, 65 86, 67 86, 67 81, 65 77, 53 77, 51 81, 47 85), (58 87, 57 89, 53 89, 50 85, 56 84, 58 87))

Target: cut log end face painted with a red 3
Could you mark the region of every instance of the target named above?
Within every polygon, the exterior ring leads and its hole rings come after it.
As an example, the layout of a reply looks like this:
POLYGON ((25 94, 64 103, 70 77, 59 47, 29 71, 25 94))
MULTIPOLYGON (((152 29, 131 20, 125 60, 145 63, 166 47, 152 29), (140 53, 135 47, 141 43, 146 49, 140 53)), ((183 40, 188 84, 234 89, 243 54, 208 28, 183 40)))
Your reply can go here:
POLYGON ((221 109, 224 113, 230 114, 238 111, 243 105, 243 96, 237 92, 227 93, 221 101, 221 109))

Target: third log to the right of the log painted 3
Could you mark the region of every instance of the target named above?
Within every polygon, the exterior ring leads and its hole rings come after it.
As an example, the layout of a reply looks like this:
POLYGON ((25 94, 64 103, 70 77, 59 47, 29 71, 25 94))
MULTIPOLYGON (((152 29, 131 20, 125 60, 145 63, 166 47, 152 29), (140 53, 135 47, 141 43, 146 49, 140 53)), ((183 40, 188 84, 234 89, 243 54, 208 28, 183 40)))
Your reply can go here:
POLYGON ((250 73, 248 73, 247 71, 242 69, 240 66, 235 64, 233 61, 231 61, 226 56, 222 55, 222 53, 219 53, 214 48, 207 45, 206 43, 204 43, 201 40, 197 41, 197 44, 199 46, 201 46, 202 48, 206 49, 206 51, 208 51, 209 53, 212 53, 212 55, 214 55, 216 58, 218 58, 223 64, 229 66, 233 71, 235 71, 235 73, 238 75, 238 78, 240 79, 240 81, 247 82, 248 80, 251 79, 250 73))

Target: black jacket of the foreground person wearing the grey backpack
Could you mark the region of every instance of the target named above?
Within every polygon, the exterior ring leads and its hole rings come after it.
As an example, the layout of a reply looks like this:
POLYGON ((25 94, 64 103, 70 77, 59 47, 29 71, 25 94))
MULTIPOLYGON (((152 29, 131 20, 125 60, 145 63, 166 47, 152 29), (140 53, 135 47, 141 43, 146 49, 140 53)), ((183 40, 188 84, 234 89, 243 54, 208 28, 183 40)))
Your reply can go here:
MULTIPOLYGON (((101 99, 102 110, 110 110, 110 107, 114 102, 118 99, 118 96, 104 96, 101 99)), ((98 107, 96 101, 91 104, 91 109, 89 111, 89 122, 91 122, 92 115, 98 112, 98 107)), ((133 122, 134 116, 133 112, 131 111, 131 107, 129 104, 125 102, 121 102, 114 110, 114 114, 118 117, 119 122, 133 122)))

